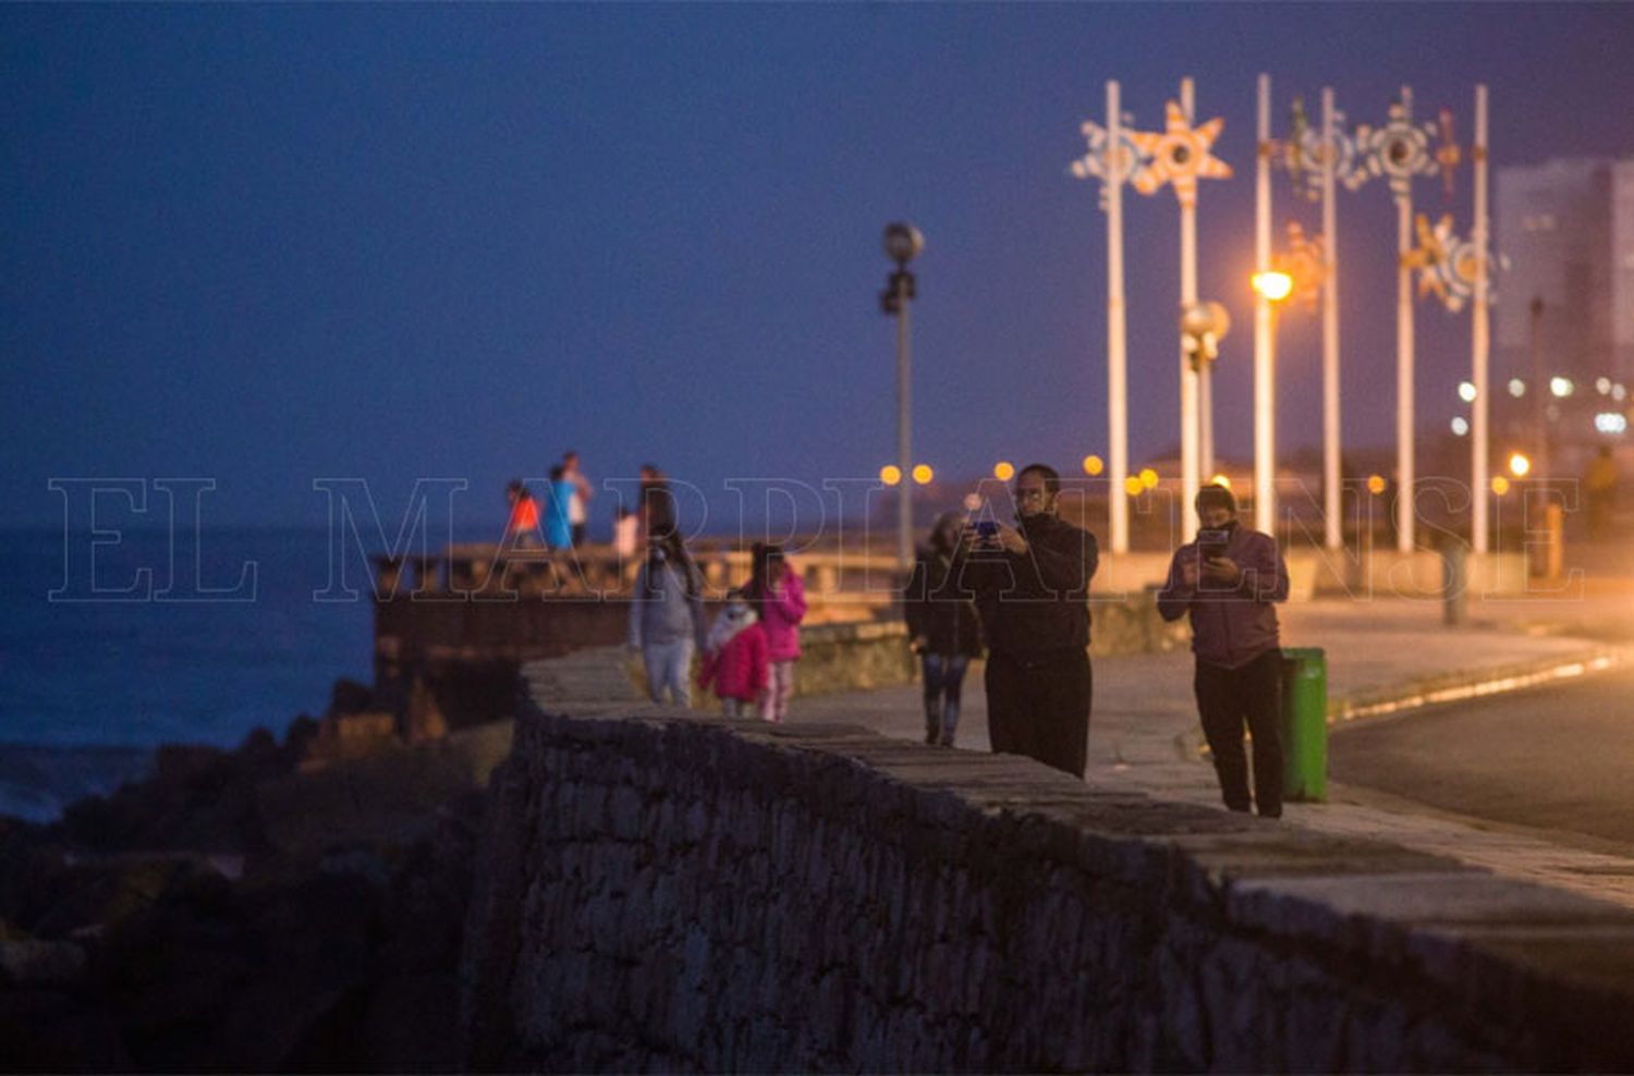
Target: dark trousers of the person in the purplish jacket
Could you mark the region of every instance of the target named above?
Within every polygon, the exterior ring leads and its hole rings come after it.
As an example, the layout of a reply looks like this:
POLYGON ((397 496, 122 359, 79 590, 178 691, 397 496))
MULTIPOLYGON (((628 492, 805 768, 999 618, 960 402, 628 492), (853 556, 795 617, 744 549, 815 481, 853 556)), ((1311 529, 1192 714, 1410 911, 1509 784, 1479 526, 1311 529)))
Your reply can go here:
POLYGON ((1283 651, 1266 650, 1235 669, 1198 661, 1198 717, 1221 779, 1221 797, 1234 811, 1248 810, 1248 756, 1242 748, 1247 723, 1253 736, 1253 802, 1260 815, 1283 815, 1283 651))

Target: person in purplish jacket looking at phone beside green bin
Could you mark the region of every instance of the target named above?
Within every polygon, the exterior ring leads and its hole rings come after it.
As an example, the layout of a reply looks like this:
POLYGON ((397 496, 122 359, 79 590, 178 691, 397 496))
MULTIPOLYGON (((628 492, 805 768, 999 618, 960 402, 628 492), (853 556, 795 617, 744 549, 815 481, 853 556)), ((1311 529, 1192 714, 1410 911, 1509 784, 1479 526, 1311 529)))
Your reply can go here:
POLYGON ((1198 717, 1226 807, 1258 805, 1261 818, 1281 818, 1283 651, 1271 602, 1288 601, 1288 567, 1276 539, 1237 522, 1237 498, 1226 487, 1198 490, 1196 508, 1203 526, 1175 550, 1157 611, 1165 620, 1191 614, 1198 717), (1243 723, 1253 735, 1252 800, 1243 723))

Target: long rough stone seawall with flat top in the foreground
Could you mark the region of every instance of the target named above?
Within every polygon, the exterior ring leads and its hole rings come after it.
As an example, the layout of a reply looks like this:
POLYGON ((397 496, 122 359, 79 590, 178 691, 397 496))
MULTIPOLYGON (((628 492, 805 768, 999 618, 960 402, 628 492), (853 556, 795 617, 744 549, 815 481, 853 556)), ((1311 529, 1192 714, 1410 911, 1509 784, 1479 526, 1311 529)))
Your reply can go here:
POLYGON ((525 712, 475 1069, 1629 1069, 1634 916, 1026 759, 525 712))

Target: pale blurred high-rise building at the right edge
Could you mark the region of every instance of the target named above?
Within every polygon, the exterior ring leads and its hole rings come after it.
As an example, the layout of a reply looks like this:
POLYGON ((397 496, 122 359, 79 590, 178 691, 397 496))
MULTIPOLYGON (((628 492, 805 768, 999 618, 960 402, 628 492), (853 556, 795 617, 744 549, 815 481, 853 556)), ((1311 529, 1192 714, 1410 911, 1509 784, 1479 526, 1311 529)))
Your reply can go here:
POLYGON ((1531 307, 1542 299, 1544 376, 1634 387, 1634 158, 1497 168, 1497 369, 1531 376, 1531 307))

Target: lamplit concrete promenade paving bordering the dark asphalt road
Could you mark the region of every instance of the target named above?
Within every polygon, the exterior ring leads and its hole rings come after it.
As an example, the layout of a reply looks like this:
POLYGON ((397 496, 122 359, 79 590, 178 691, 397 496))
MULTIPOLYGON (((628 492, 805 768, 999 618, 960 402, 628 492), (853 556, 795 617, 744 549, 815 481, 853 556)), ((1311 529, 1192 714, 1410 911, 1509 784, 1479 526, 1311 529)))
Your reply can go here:
MULTIPOLYGON (((1412 720, 1412 709, 1433 692, 1490 691, 1525 676, 1593 674, 1595 666, 1634 660, 1634 650, 1562 634, 1601 622, 1601 609, 1626 609, 1624 596, 1605 598, 1611 601, 1476 602, 1458 629, 1444 627, 1440 604, 1428 601, 1299 602, 1281 611, 1283 643, 1327 651, 1330 712, 1335 704, 1377 712, 1400 702, 1391 717, 1358 720, 1412 720)), ((977 671, 964 687, 959 748, 987 751, 977 671)), ((918 686, 797 699, 791 722, 848 722, 904 740, 923 736, 918 686)), ((1343 736, 1345 722, 1332 731, 1343 736)), ((1214 771, 1198 748, 1188 651, 1096 660, 1092 785, 1219 807, 1214 771)), ((1462 818, 1332 782, 1328 795, 1327 803, 1289 803, 1283 825, 1391 841, 1634 908, 1631 849, 1596 851, 1587 839, 1462 818)))

